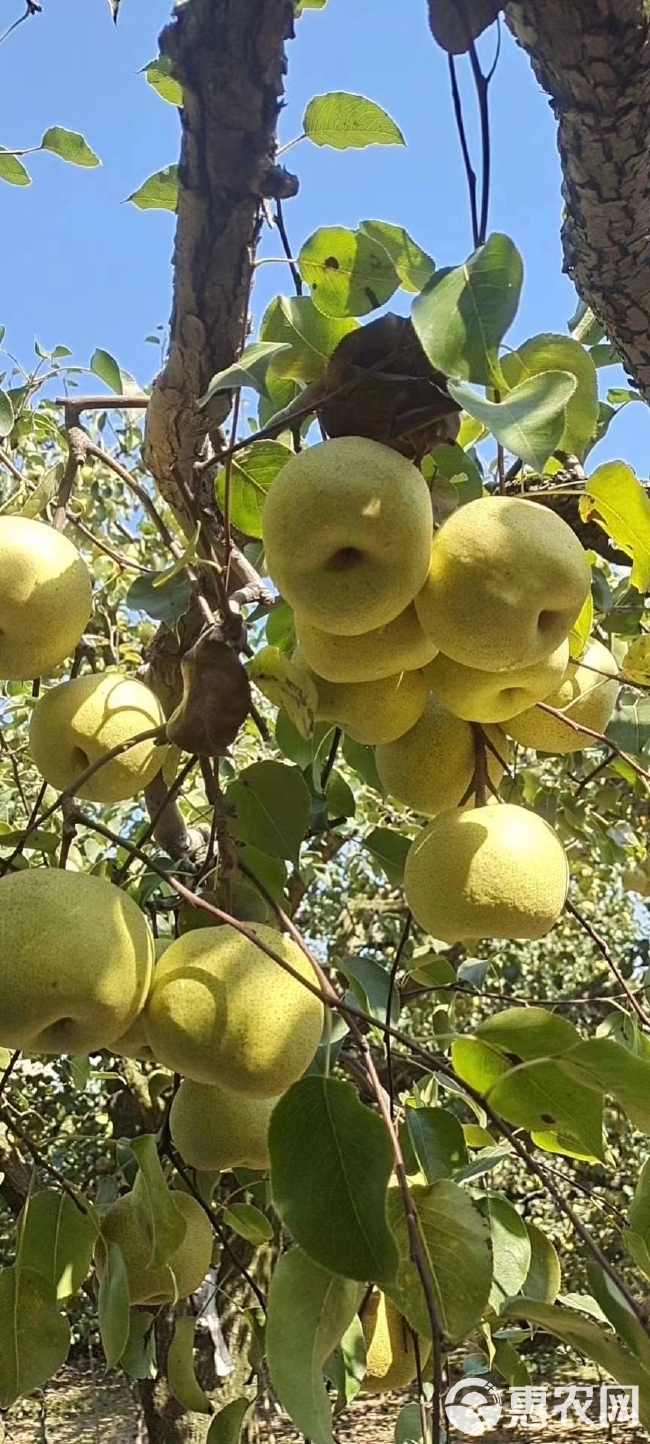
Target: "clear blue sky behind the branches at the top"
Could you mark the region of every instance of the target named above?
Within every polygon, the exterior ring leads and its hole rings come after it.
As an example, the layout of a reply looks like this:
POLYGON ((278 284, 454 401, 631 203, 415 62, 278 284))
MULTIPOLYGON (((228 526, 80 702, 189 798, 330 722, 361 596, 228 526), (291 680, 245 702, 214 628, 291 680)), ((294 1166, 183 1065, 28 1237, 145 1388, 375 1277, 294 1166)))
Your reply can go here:
MULTIPOLYGON (((1 0, 1 23, 22 9, 22 0, 1 0)), ((43 13, 0 48, 3 146, 35 144, 59 124, 81 130, 103 159, 101 169, 79 170, 35 156, 29 189, 0 183, 0 323, 23 361, 38 336, 49 348, 71 347, 78 364, 104 347, 140 383, 152 378, 156 352, 144 338, 169 315, 173 217, 124 201, 178 157, 178 113, 139 74, 156 55, 169 10, 170 0, 123 0, 114 27, 107 0, 43 0, 43 13)), ((493 46, 490 36, 485 61, 493 46)), ((319 225, 387 219, 404 225, 439 266, 462 261, 471 251, 465 180, 446 59, 428 32, 425 0, 328 0, 325 10, 305 12, 287 49, 283 142, 300 133, 306 101, 328 90, 370 95, 407 140, 407 149, 334 152, 302 142, 290 150, 287 165, 300 176, 300 195, 286 211, 295 250, 319 225)), ((575 295, 562 276, 555 121, 506 30, 491 116, 490 224, 513 237, 526 264, 508 341, 565 331, 575 295)), ((274 238, 266 251, 279 254, 274 238)), ((279 290, 290 292, 285 267, 261 267, 256 316, 279 290)), ((614 370, 604 380, 624 384, 614 370)), ((649 412, 634 403, 597 459, 624 456, 647 477, 649 451, 649 412)))

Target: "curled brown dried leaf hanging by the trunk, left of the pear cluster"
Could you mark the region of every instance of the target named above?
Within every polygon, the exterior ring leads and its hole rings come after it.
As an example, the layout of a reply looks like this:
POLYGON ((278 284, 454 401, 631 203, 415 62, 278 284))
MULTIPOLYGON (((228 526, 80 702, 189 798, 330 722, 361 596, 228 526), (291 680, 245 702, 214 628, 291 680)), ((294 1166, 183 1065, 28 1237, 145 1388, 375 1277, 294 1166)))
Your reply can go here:
POLYGON ((248 715, 246 669, 212 628, 185 654, 181 671, 183 695, 168 721, 168 738, 183 752, 222 757, 248 715))

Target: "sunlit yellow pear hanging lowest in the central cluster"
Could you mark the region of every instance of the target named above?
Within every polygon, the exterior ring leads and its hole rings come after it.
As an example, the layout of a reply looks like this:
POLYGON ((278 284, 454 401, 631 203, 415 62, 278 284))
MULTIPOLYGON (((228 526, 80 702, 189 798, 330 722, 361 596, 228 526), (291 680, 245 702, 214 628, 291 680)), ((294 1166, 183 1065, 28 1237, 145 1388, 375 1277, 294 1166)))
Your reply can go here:
POLYGON ((441 813, 406 855, 406 901, 416 923, 443 943, 545 937, 568 885, 553 829, 508 803, 441 813))

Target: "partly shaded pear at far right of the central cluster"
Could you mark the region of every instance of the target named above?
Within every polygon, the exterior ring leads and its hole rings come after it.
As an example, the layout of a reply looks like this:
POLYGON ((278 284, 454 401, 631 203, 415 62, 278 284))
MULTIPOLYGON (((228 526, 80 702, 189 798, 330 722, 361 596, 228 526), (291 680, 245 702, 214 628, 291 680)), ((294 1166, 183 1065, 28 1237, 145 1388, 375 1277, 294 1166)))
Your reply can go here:
POLYGON ((618 664, 601 641, 592 638, 578 661, 571 661, 563 682, 545 696, 545 703, 563 712, 566 722, 550 716, 543 708, 529 708, 506 723, 506 731, 521 747, 537 752, 579 752, 598 747, 598 739, 579 732, 579 723, 592 732, 604 732, 618 696, 618 664))

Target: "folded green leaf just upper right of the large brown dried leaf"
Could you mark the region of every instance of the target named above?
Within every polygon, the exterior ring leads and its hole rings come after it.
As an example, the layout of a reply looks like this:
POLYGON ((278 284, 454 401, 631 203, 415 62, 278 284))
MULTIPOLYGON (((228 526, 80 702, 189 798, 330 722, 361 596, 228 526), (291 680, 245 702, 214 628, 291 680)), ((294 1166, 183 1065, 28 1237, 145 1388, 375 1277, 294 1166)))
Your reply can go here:
POLYGON ((412 306, 413 326, 432 365, 462 381, 498 386, 497 352, 517 315, 521 282, 517 247, 498 232, 464 266, 432 276, 412 306))

